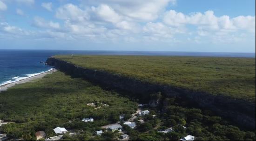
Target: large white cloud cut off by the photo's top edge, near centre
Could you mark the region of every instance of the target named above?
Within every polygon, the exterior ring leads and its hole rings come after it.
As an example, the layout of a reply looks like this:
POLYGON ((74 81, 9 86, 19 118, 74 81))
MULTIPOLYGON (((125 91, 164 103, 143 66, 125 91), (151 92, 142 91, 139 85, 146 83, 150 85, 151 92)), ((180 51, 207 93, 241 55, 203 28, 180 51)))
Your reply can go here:
POLYGON ((107 4, 120 16, 136 21, 152 21, 164 12, 168 4, 174 5, 176 0, 92 0, 81 1, 84 6, 107 4))

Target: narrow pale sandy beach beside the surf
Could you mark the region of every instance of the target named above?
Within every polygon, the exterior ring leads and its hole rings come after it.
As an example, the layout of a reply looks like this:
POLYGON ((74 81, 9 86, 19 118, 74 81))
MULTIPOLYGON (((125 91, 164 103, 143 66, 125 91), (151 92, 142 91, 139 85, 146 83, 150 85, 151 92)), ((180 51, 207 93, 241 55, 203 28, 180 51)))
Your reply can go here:
POLYGON ((9 84, 0 86, 0 92, 1 91, 6 91, 9 87, 13 87, 16 84, 22 84, 22 83, 26 83, 26 82, 29 82, 29 81, 32 81, 32 80, 36 80, 36 79, 44 77, 46 74, 52 74, 56 71, 57 71, 56 69, 53 69, 53 70, 47 71, 47 72, 42 73, 42 74, 34 75, 34 76, 29 77, 29 78, 24 79, 24 80, 20 80, 20 81, 17 81, 17 82, 13 82, 13 83, 9 83, 9 84))

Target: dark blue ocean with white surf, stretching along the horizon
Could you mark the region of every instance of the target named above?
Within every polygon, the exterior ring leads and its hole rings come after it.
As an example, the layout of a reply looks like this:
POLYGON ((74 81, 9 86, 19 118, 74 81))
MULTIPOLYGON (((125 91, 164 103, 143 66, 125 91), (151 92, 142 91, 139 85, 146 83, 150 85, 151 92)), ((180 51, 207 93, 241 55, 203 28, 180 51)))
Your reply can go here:
POLYGON ((44 63, 41 63, 41 61, 45 62, 47 57, 60 54, 255 57, 255 53, 0 49, 0 86, 50 70, 51 67, 44 65, 44 63))

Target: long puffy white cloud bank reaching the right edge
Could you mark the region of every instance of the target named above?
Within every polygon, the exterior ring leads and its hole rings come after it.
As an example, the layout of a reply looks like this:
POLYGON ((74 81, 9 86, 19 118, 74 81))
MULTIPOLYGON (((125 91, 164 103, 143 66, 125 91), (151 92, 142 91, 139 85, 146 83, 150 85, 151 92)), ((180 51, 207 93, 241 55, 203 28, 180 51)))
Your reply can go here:
POLYGON ((165 13, 163 22, 171 26, 195 25, 201 30, 235 31, 245 29, 255 31, 255 16, 229 18, 229 16, 223 15, 217 17, 213 11, 185 15, 182 12, 170 10, 165 13))

